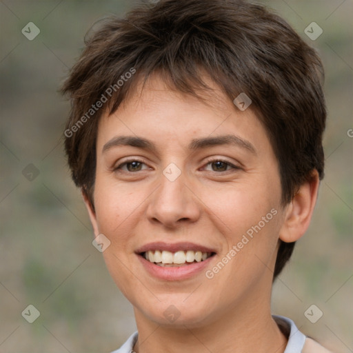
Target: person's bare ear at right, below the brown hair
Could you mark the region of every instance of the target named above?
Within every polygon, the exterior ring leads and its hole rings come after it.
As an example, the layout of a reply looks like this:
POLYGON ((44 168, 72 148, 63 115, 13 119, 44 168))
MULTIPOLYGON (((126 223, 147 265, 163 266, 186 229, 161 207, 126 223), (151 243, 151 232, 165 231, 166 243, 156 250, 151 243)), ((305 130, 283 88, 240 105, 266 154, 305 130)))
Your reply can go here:
POLYGON ((287 205, 285 220, 279 232, 279 239, 285 243, 297 241, 309 227, 319 184, 319 173, 314 170, 310 179, 300 186, 290 204, 287 205))

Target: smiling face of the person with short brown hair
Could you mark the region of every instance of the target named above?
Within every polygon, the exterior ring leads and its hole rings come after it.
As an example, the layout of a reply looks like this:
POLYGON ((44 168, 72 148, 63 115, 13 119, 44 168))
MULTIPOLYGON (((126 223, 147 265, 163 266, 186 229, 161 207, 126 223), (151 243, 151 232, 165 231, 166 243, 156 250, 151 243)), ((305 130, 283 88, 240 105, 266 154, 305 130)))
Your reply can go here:
POLYGON ((137 316, 160 325, 196 327, 270 298, 279 166, 251 107, 214 89, 206 105, 154 77, 99 123, 94 232, 110 240, 105 263, 137 316))

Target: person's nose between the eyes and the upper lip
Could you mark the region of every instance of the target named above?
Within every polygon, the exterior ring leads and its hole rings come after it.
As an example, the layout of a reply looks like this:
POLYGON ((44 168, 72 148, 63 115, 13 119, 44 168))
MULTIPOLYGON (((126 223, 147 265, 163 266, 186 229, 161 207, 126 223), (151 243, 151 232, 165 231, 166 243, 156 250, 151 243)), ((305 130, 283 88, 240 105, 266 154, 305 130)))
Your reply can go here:
POLYGON ((152 223, 165 228, 178 228, 199 219, 201 209, 192 187, 183 172, 174 181, 161 173, 160 186, 152 194, 147 208, 147 217, 152 223))

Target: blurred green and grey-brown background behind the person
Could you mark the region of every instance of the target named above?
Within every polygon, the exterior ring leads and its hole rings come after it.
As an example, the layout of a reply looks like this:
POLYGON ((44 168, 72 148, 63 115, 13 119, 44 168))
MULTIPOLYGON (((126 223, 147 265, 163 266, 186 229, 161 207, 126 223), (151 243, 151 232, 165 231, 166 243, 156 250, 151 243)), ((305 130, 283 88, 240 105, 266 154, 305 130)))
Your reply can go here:
MULTIPOLYGON (((272 311, 334 352, 353 352, 353 2, 258 2, 319 50, 328 108, 319 202, 274 285, 272 311), (315 40, 305 34, 312 22, 323 30, 315 40), (322 312, 316 323, 308 308, 315 317, 322 312)), ((0 352, 110 352, 136 329, 130 303, 92 246, 63 154, 70 107, 57 93, 85 32, 135 3, 0 1, 0 352), (28 305, 40 312, 32 324, 26 319, 37 312, 28 305)))

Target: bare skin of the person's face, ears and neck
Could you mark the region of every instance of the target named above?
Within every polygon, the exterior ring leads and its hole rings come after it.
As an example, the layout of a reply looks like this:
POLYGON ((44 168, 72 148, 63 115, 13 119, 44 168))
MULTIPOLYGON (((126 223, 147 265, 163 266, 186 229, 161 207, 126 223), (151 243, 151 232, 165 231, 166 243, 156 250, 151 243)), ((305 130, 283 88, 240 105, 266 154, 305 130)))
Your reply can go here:
POLYGON ((210 97, 203 94, 206 105, 170 90, 155 75, 99 123, 94 212, 83 197, 95 236, 103 233, 111 241, 103 252, 108 270, 134 306, 135 352, 285 350, 287 339, 270 313, 276 252, 279 239, 296 241, 307 229, 319 178, 314 171, 312 181, 283 207, 279 165, 263 125, 251 107, 241 112, 213 88, 210 97), (192 139, 226 134, 248 141, 254 152, 241 145, 188 150, 192 139), (123 135, 149 139, 156 150, 120 145, 103 152, 123 135), (131 164, 115 169, 128 159, 143 163, 137 171, 131 164), (175 181, 163 175, 170 163, 181 170, 175 181), (162 281, 135 254, 154 241, 192 241, 216 251, 207 268, 212 270, 272 209, 277 211, 272 220, 212 279, 201 271, 190 279, 162 281), (163 314, 170 305, 180 314, 173 323, 163 314))

